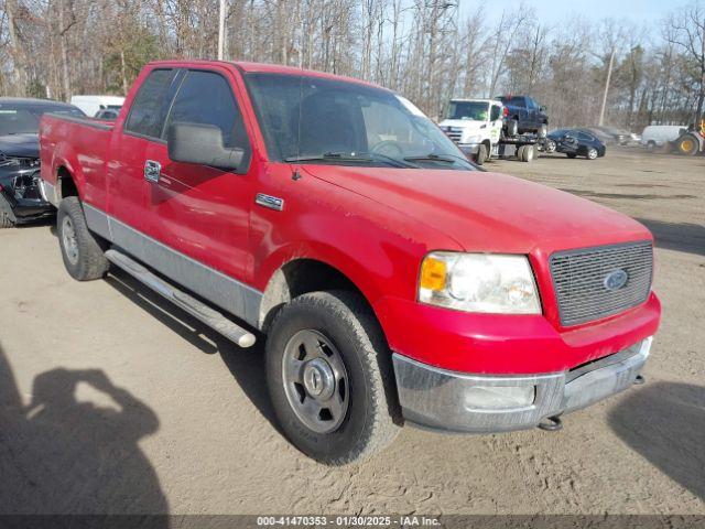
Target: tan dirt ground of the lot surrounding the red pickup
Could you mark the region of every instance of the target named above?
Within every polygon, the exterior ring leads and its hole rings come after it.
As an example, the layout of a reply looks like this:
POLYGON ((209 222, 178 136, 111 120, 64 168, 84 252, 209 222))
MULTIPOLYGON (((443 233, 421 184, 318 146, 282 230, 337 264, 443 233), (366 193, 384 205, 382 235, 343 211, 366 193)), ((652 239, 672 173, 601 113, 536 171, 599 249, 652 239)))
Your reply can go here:
POLYGON ((647 384, 532 430, 405 428, 328 468, 273 424, 262 350, 124 274, 78 283, 48 225, 0 231, 0 512, 705 514, 705 158, 498 161, 657 237, 647 384))

